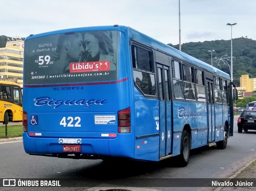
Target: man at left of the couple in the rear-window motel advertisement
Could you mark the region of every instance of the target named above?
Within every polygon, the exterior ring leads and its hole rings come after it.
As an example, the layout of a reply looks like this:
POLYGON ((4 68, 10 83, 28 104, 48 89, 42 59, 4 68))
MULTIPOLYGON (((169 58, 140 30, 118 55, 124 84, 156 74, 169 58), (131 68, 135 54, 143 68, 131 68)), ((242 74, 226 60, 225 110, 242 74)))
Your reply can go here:
POLYGON ((61 72, 68 73, 70 63, 80 61, 82 53, 84 53, 82 34, 61 34, 58 38, 57 48, 56 61, 51 71, 56 73, 61 69, 61 72))

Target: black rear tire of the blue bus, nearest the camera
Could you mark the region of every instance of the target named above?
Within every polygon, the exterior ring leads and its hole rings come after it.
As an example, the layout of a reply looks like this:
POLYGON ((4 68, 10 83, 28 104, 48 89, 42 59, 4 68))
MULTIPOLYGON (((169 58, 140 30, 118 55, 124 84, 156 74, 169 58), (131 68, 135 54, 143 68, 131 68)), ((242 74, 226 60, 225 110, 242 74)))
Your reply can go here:
POLYGON ((180 143, 180 156, 178 157, 180 167, 186 167, 188 165, 190 155, 190 135, 188 131, 184 131, 181 137, 180 143))

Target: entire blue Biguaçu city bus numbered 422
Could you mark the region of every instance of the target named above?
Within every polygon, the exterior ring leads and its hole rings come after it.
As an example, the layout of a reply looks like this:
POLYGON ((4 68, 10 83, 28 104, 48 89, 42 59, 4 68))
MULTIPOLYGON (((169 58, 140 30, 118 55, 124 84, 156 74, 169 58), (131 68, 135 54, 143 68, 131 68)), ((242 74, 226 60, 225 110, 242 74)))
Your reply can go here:
POLYGON ((23 144, 30 155, 177 156, 186 166, 191 149, 225 149, 233 136, 230 76, 130 27, 40 33, 24 45, 23 144))

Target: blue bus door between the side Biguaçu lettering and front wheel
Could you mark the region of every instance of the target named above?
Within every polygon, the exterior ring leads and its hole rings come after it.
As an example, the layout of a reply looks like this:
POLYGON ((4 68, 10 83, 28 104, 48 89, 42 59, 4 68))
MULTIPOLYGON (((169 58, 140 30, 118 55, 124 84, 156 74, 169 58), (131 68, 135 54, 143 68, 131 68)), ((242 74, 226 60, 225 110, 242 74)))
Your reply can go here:
POLYGON ((215 122, 215 107, 214 107, 214 91, 213 81, 206 79, 207 88, 207 111, 208 111, 208 143, 214 141, 214 122, 215 122))

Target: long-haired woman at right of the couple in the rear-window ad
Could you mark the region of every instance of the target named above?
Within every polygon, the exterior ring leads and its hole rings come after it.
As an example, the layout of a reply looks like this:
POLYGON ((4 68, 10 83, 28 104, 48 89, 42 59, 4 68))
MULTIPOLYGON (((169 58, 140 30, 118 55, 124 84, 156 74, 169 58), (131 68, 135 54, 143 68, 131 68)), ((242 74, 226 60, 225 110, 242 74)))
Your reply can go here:
POLYGON ((110 70, 116 69, 111 31, 92 31, 84 33, 85 61, 110 61, 110 70))

